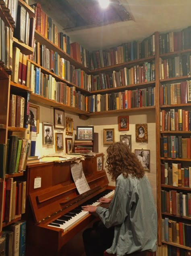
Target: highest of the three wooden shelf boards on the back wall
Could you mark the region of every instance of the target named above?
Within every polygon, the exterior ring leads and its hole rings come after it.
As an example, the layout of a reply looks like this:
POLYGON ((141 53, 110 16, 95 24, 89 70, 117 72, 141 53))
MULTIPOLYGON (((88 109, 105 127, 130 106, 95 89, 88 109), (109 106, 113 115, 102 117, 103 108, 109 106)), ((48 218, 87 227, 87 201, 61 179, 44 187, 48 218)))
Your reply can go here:
POLYGON ((135 64, 140 65, 146 61, 153 61, 154 59, 155 59, 155 56, 150 56, 150 57, 143 58, 143 59, 136 59, 134 61, 119 63, 119 64, 108 66, 108 67, 102 67, 100 69, 93 69, 89 73, 91 75, 93 75, 93 74, 104 73, 104 72, 113 71, 113 70, 120 70, 124 67, 133 67, 135 64))

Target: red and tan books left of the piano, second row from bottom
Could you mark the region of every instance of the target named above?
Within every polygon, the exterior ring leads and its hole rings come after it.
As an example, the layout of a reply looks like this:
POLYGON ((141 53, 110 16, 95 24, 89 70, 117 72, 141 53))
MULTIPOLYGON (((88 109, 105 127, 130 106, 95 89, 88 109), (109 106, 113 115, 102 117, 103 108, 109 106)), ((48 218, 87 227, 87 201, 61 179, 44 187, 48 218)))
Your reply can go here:
POLYGON ((4 183, 3 221, 10 222, 25 213, 26 181, 6 178, 4 183))

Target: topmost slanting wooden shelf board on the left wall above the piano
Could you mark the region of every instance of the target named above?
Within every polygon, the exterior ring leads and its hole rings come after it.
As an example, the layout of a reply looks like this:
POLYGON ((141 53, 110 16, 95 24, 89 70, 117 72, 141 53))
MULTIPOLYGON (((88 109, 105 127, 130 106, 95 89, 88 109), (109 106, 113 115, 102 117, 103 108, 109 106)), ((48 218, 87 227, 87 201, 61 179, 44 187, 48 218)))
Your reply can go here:
POLYGON ((70 61, 70 64, 74 65, 75 68, 80 68, 84 70, 86 73, 89 73, 89 69, 84 67, 83 64, 79 63, 75 59, 73 59, 70 55, 68 55, 66 52, 64 52, 62 49, 60 49, 56 44, 52 43, 49 39, 47 39, 45 36, 40 34, 37 30, 35 30, 35 39, 37 42, 40 42, 41 44, 45 44, 50 50, 53 50, 54 52, 58 52, 60 57, 66 59, 67 61, 70 61))

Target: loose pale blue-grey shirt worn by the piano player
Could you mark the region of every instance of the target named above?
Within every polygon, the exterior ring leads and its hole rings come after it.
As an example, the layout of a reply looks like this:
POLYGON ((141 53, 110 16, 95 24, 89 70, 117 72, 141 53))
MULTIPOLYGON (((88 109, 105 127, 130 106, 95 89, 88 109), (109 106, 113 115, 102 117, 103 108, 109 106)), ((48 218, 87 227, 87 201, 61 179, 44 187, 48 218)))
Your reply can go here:
POLYGON ((99 206, 96 212, 107 228, 115 226, 109 254, 124 256, 139 250, 156 251, 157 214, 146 176, 124 178, 120 174, 109 208, 99 206))

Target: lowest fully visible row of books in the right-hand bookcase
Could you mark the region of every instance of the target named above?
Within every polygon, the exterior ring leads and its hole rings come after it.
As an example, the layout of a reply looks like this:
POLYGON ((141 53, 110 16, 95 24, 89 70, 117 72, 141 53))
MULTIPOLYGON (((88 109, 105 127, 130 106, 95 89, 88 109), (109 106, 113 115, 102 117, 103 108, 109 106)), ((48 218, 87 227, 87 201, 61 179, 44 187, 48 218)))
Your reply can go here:
POLYGON ((162 240, 191 247, 191 225, 162 218, 162 240))

